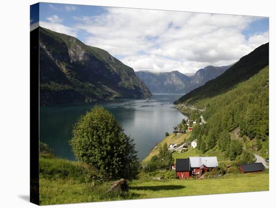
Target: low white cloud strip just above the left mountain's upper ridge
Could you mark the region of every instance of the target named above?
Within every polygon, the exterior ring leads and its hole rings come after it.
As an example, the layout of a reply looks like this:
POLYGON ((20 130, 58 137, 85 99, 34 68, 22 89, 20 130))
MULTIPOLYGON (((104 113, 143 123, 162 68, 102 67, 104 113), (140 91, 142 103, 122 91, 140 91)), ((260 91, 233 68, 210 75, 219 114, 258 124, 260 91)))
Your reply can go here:
POLYGON ((50 22, 43 22, 43 21, 40 21, 39 25, 43 28, 48 28, 48 29, 58 32, 58 33, 64 33, 67 35, 77 37, 78 30, 75 28, 67 27, 67 26, 59 24, 59 23, 50 23, 50 22))

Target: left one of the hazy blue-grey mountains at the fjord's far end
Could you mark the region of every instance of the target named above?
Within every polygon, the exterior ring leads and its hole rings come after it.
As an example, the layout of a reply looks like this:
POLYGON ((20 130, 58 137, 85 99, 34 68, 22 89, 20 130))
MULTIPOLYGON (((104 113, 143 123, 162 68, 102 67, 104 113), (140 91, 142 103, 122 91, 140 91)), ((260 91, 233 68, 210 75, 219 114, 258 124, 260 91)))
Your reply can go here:
POLYGON ((136 71, 135 74, 149 87, 153 93, 186 93, 192 78, 171 71, 164 73, 153 73, 150 71, 136 71))

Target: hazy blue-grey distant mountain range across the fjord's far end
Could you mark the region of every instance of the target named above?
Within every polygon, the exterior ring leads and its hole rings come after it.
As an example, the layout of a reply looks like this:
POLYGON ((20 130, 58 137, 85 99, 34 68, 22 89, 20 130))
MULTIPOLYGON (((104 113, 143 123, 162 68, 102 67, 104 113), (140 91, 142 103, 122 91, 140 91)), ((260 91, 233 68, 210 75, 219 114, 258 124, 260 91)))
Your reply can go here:
POLYGON ((187 93, 225 72, 229 66, 206 66, 195 74, 179 71, 154 73, 136 71, 135 74, 148 86, 152 93, 187 93))

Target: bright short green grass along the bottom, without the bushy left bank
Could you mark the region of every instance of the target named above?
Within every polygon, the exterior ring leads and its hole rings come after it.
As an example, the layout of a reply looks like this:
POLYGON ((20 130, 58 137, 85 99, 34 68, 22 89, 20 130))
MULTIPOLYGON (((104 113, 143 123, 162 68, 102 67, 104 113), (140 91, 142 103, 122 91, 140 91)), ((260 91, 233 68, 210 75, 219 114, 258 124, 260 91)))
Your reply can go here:
POLYGON ((104 200, 190 196, 248 191, 267 191, 268 173, 235 174, 203 180, 140 179, 130 182, 127 194, 108 194, 109 183, 95 187, 89 183, 66 179, 40 179, 41 204, 77 203, 104 200), (208 187, 208 188, 206 188, 208 187))

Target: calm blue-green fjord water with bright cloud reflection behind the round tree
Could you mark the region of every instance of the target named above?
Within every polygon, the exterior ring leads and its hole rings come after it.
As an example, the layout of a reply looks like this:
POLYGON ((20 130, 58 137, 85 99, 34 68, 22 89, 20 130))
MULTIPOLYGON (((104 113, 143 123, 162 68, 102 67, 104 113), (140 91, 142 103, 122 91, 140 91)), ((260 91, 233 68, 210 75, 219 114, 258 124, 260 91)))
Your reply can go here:
MULTIPOLYGON (((134 138, 135 149, 140 160, 160 142, 166 132, 172 132, 183 116, 173 108, 173 101, 181 94, 154 94, 149 100, 121 99, 99 101, 111 112, 123 127, 124 132, 134 138)), ((72 137, 72 125, 81 114, 85 114, 96 103, 74 103, 40 108, 40 140, 49 144, 56 155, 75 160, 68 141, 72 137)))

